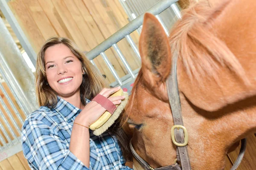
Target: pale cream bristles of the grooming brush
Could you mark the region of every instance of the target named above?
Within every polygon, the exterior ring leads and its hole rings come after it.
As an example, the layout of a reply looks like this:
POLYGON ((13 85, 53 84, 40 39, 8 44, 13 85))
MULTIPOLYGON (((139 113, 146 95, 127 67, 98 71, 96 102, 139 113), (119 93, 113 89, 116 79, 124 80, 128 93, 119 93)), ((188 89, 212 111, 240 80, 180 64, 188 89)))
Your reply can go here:
POLYGON ((122 102, 117 106, 116 111, 114 111, 111 117, 101 127, 93 131, 94 135, 99 136, 102 133, 104 133, 106 130, 108 130, 109 127, 111 127, 111 125, 113 125, 115 120, 120 116, 120 114, 125 108, 125 105, 128 102, 128 93, 124 92, 123 95, 125 96, 125 99, 122 100, 122 102))

